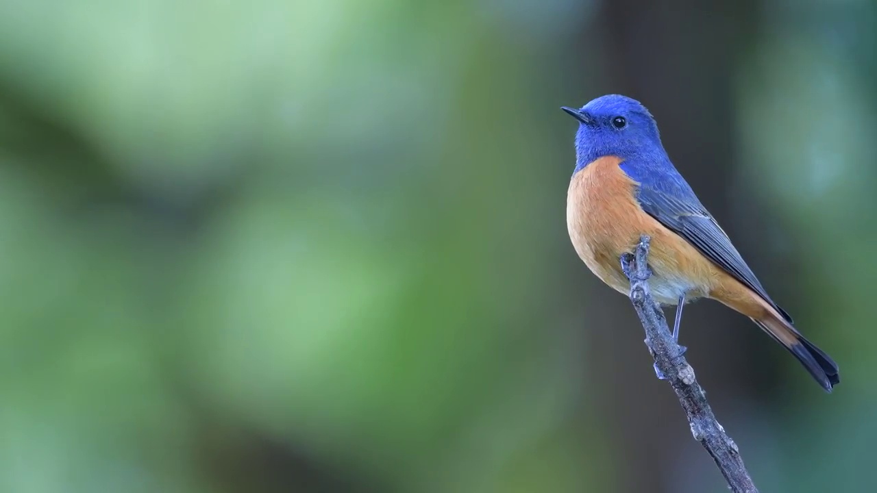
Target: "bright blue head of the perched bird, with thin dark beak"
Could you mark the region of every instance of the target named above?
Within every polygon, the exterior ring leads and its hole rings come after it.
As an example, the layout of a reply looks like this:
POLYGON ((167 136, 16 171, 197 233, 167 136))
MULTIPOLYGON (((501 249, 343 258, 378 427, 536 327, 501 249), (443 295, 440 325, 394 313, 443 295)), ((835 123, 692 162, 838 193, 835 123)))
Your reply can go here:
POLYGON ((622 159, 664 153, 658 125, 645 106, 627 96, 600 96, 579 109, 562 107, 579 120, 575 170, 606 155, 622 159))

